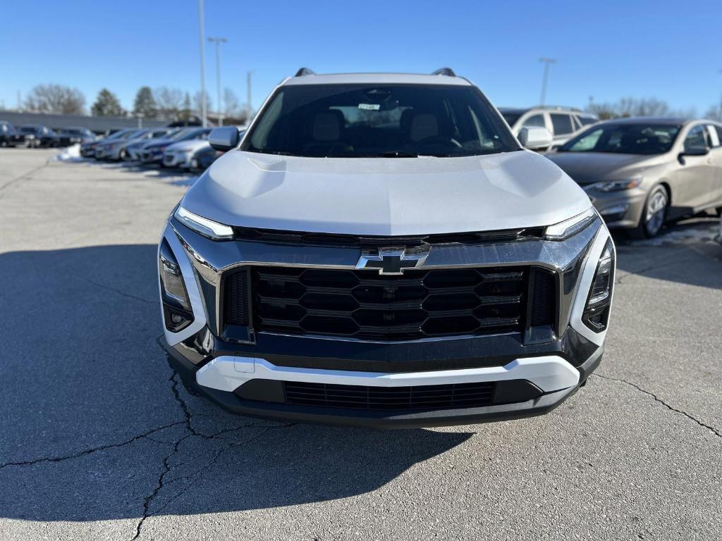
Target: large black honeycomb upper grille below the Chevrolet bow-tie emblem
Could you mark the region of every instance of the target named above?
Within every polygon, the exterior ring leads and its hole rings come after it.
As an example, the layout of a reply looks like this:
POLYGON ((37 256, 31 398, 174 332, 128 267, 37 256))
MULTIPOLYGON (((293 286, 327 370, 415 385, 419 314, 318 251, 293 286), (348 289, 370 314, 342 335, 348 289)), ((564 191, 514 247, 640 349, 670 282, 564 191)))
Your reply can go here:
POLYGON ((253 267, 251 283, 258 331, 414 340, 526 327, 527 267, 409 270, 401 276, 253 267))

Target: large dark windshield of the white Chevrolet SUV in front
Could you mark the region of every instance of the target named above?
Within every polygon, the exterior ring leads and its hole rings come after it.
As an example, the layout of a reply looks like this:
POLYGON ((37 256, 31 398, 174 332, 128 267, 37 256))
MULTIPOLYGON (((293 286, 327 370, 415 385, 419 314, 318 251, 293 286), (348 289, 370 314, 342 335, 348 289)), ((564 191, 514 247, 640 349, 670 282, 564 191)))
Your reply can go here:
POLYGON ((292 85, 277 90, 241 149, 303 157, 456 157, 519 150, 474 87, 292 85))

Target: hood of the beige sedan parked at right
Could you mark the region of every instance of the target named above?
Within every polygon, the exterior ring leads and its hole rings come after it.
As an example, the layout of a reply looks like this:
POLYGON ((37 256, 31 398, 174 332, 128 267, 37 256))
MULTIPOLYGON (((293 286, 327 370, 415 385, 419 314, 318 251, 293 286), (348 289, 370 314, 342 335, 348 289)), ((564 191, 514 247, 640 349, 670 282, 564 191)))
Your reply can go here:
POLYGON ((668 160, 664 154, 648 156, 612 152, 554 152, 547 154, 547 158, 580 185, 600 180, 624 180, 668 160))

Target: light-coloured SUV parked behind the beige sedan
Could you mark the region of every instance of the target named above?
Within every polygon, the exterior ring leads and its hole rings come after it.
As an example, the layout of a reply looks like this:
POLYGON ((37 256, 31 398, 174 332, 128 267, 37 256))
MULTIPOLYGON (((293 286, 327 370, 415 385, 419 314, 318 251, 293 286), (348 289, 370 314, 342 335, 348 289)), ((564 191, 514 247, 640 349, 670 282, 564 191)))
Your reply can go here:
POLYGON ((562 146, 582 128, 599 122, 596 115, 573 107, 499 107, 499 112, 516 136, 519 136, 521 128, 547 128, 552 134, 552 148, 562 146))

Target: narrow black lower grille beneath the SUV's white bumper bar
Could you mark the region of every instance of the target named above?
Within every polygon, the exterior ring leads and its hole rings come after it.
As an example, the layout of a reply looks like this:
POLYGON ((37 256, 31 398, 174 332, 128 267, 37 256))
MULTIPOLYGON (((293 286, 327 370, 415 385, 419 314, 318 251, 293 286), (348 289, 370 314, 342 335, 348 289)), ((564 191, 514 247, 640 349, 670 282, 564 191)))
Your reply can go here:
POLYGON ((284 382, 286 403, 359 410, 438 410, 490 405, 495 382, 366 387, 284 382))

